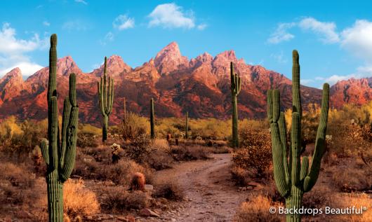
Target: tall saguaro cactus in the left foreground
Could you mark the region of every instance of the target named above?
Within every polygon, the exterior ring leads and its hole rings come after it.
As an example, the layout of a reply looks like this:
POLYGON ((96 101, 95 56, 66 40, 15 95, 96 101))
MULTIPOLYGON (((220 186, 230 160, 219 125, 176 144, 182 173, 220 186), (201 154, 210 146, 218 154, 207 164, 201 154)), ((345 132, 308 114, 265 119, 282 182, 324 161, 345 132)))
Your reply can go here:
POLYGON ((77 148, 77 106, 76 75, 69 75, 69 97, 65 98, 62 116, 62 137, 58 127, 58 106, 56 90, 57 35, 51 36, 49 51, 48 81, 48 141, 41 142, 41 153, 46 162, 46 184, 48 190, 49 221, 63 221, 63 183, 74 168, 77 148))

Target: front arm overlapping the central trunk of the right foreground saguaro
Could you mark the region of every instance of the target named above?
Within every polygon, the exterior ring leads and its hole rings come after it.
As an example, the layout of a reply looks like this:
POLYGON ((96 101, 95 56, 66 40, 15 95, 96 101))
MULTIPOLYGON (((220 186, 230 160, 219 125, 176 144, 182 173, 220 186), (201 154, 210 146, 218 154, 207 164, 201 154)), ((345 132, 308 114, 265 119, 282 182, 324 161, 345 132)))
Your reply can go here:
POLYGON ((291 167, 291 183, 296 186, 300 181, 300 152, 301 152, 301 125, 300 113, 292 113, 292 132, 291 132, 291 146, 292 146, 292 167, 291 167))

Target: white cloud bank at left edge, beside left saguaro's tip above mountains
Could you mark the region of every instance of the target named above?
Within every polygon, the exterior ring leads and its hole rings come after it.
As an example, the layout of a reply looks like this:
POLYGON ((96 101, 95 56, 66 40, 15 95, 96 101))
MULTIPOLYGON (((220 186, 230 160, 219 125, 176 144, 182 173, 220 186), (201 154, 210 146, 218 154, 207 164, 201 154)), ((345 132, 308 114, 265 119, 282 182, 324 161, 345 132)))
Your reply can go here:
POLYGON ((0 77, 15 67, 19 67, 24 76, 32 75, 41 69, 26 53, 44 49, 47 43, 47 39, 40 39, 38 34, 28 40, 17 39, 15 29, 4 23, 0 31, 0 77))

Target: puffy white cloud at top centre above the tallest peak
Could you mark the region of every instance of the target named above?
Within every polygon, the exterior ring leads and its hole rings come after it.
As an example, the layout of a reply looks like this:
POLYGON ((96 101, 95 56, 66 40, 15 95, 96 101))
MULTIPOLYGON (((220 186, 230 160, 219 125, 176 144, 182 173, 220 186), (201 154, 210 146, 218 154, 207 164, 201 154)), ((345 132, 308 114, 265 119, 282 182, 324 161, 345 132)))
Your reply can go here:
POLYGON ((182 7, 174 3, 160 4, 148 15, 150 18, 149 27, 192 29, 195 27, 192 14, 192 11, 185 13, 182 11, 182 7))

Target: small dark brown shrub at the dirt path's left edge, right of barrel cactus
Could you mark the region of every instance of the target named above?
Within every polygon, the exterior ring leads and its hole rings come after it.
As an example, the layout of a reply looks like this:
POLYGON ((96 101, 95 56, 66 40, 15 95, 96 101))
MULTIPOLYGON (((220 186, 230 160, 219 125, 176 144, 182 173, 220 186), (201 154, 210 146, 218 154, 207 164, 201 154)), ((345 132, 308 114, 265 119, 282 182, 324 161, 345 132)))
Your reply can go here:
POLYGON ((164 197, 168 200, 183 200, 184 196, 184 190, 175 181, 167 181, 155 186, 154 197, 164 197))

